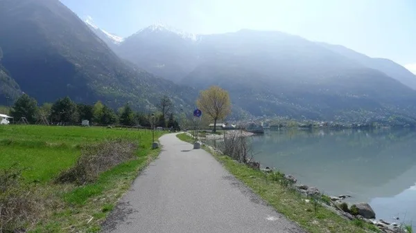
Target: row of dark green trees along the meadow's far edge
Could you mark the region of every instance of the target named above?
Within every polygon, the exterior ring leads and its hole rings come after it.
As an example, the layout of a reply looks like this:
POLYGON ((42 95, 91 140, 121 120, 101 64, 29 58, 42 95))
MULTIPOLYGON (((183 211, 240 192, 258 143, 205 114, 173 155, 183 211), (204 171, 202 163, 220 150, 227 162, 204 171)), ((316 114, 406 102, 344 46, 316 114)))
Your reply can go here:
POLYGON ((155 121, 155 127, 169 127, 179 129, 177 120, 174 119, 171 100, 164 96, 158 105, 161 110, 152 118, 150 114, 135 112, 129 104, 114 111, 109 106, 98 101, 94 105, 77 104, 69 97, 56 100, 54 103, 44 103, 38 106, 37 101, 27 94, 21 95, 10 109, 10 115, 15 120, 26 118, 26 120, 35 124, 42 122, 42 118, 46 118, 53 123, 79 123, 83 120, 89 120, 94 124, 122 124, 125 126, 151 127, 152 121, 155 121))

